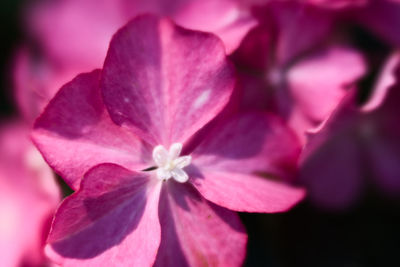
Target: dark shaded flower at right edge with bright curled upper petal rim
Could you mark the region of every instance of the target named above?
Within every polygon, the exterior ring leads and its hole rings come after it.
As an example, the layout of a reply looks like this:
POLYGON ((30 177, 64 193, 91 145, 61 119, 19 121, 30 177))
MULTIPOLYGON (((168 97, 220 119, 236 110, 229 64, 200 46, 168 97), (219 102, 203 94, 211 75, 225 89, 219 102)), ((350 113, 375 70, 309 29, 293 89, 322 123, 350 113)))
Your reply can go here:
POLYGON ((399 55, 388 61, 370 100, 362 107, 349 92, 309 137, 301 180, 317 205, 344 209, 359 199, 366 177, 388 195, 400 193, 399 55))

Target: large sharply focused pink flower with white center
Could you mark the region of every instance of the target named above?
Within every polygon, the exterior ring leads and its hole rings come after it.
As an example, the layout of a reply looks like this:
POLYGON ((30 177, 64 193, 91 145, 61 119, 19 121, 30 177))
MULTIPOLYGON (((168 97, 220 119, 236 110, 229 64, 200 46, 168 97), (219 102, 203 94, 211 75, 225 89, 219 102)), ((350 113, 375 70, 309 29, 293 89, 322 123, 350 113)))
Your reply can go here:
POLYGON ((119 30, 103 70, 66 84, 35 124, 36 145, 77 190, 55 215, 48 255, 66 266, 239 266, 247 237, 234 211, 286 211, 304 191, 258 175, 296 168, 298 141, 278 118, 213 120, 234 86, 212 34, 153 16, 119 30))

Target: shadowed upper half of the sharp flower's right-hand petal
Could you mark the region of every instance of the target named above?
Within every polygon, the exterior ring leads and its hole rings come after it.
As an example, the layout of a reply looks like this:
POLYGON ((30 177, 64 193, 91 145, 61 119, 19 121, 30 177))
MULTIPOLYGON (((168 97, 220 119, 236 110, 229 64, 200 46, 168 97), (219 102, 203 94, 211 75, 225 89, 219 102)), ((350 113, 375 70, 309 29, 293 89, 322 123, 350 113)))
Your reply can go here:
POLYGON ((296 170, 300 144, 277 116, 249 112, 222 121, 193 151, 202 170, 288 177, 296 170))

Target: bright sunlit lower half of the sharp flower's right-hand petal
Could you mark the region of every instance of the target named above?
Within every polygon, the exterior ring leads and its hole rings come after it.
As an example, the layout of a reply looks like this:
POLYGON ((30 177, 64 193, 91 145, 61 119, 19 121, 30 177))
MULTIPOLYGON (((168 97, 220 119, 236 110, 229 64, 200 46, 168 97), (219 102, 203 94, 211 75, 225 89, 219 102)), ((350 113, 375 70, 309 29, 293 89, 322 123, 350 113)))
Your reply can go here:
POLYGON ((192 180, 192 184, 207 200, 240 212, 284 212, 305 196, 301 188, 234 172, 207 170, 202 172, 201 177, 192 180))

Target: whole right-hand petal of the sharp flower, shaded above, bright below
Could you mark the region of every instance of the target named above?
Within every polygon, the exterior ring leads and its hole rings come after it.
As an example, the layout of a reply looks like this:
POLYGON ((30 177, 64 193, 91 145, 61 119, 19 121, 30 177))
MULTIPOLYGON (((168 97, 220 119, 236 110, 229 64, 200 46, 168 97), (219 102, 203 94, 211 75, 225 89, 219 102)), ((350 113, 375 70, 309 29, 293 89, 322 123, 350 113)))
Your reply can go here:
POLYGON ((300 152, 295 135, 265 113, 231 118, 192 153, 191 182, 208 200, 236 211, 280 212, 304 196, 302 189, 267 180, 289 178, 300 152))

